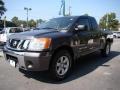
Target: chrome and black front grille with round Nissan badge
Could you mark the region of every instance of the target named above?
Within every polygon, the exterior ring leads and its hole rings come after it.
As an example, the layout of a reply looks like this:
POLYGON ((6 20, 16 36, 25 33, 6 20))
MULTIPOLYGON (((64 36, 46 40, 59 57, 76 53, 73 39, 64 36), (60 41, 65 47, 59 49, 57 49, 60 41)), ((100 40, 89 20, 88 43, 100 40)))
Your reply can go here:
POLYGON ((28 47, 30 40, 9 39, 6 46, 11 49, 25 50, 28 47))

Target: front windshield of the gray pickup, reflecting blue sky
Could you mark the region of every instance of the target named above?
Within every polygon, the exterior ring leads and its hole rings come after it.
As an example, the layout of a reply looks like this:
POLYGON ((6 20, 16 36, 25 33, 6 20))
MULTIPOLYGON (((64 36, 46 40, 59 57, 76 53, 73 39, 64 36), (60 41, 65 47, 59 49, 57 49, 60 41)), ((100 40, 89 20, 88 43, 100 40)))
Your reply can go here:
POLYGON ((40 29, 67 30, 75 21, 75 17, 61 17, 49 20, 39 26, 40 29))

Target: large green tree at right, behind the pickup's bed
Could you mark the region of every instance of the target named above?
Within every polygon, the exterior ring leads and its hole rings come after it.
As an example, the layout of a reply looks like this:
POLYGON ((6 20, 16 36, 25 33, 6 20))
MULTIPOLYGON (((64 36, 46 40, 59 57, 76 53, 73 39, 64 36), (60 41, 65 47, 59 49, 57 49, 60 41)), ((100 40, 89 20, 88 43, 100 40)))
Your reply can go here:
POLYGON ((118 30, 119 21, 116 19, 115 13, 109 13, 100 19, 99 25, 101 29, 118 30))

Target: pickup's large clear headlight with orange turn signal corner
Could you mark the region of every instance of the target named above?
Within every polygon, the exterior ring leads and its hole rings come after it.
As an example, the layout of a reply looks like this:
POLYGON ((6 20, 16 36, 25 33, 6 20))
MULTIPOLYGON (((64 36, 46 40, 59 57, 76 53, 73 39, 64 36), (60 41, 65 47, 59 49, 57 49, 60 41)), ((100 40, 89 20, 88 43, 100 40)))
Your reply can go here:
POLYGON ((42 49, 48 49, 51 44, 51 38, 35 38, 31 40, 28 50, 39 51, 42 49))

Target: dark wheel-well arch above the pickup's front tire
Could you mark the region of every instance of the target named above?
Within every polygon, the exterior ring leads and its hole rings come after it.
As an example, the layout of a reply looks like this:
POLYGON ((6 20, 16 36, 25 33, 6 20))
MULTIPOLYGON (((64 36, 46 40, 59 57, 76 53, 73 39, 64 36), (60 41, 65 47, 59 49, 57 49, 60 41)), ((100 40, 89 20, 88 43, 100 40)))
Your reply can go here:
POLYGON ((52 62, 53 57, 56 55, 57 52, 59 52, 59 51, 61 51, 61 50, 67 50, 67 51, 70 53, 71 58, 72 58, 72 62, 73 62, 73 60, 74 60, 74 52, 73 52, 73 49, 72 49, 71 47, 69 47, 69 46, 61 46, 61 47, 57 48, 57 49, 52 53, 52 57, 51 57, 51 60, 50 60, 49 67, 50 67, 50 65, 51 65, 51 62, 52 62))

